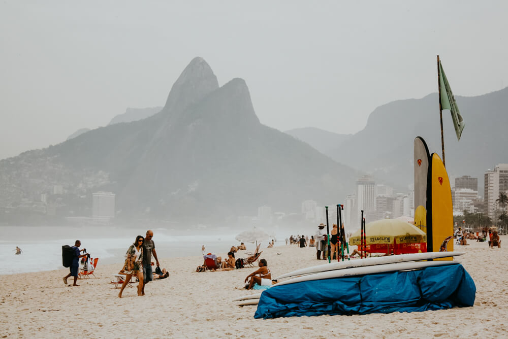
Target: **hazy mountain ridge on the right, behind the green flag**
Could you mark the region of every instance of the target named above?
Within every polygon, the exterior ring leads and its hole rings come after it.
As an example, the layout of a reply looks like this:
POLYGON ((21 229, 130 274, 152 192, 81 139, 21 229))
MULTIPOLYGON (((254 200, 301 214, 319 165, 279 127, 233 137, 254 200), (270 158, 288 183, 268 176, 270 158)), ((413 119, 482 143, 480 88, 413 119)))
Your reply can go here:
MULTIPOLYGON (((508 159, 508 87, 473 97, 456 96, 466 126, 457 141, 448 110, 443 111, 445 160, 449 175, 478 178, 508 159)), ((327 154, 377 178, 407 185, 414 181, 413 141, 420 135, 441 157, 437 94, 398 100, 376 108, 367 125, 327 154)))

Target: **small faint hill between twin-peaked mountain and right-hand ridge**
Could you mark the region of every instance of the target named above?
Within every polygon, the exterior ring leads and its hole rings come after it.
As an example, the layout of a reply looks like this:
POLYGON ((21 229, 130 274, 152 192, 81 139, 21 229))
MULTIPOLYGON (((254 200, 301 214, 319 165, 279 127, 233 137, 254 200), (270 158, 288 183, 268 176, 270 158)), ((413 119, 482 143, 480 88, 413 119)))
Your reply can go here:
POLYGON ((323 154, 331 153, 342 142, 352 137, 353 134, 338 134, 315 127, 295 128, 284 131, 298 140, 309 144, 323 154))

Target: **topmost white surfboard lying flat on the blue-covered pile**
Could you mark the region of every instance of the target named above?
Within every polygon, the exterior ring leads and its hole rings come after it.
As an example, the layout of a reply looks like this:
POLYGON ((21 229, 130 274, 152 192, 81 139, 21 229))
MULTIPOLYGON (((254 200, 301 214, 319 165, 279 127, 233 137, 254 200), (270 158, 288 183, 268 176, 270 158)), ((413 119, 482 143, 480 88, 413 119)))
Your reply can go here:
POLYGON ((389 263, 396 262, 406 262, 406 261, 416 261, 416 260, 428 260, 433 258, 440 258, 444 256, 457 256, 463 255, 465 252, 426 252, 426 253, 412 253, 412 254, 399 254, 399 255, 390 255, 386 257, 377 257, 377 258, 366 258, 366 259, 357 259, 351 261, 340 261, 327 263, 324 265, 316 265, 306 268, 301 268, 294 270, 292 272, 283 274, 278 276, 276 280, 294 276, 300 276, 304 274, 313 274, 319 272, 326 272, 335 269, 346 269, 346 268, 354 268, 354 267, 363 267, 363 266, 373 266, 373 265, 383 265, 389 263))

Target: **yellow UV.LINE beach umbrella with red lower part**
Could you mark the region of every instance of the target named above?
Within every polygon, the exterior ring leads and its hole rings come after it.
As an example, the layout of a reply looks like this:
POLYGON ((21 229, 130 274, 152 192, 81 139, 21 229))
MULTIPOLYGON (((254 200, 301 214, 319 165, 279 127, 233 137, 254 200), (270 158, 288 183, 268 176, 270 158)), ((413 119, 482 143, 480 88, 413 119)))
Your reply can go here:
MULTIPOLYGON (((365 226, 366 245, 370 252, 395 254, 427 252, 427 234, 408 222, 397 219, 382 219, 365 226)), ((350 245, 360 245, 361 231, 350 238, 350 245)))

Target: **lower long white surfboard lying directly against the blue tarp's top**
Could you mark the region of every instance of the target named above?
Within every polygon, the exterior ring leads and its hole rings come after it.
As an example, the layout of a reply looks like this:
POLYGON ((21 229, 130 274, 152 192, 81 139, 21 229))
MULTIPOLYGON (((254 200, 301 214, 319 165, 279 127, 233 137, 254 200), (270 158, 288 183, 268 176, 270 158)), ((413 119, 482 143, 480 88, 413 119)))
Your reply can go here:
POLYGON ((292 278, 286 281, 281 281, 272 286, 282 286, 287 284, 295 284, 301 283, 304 281, 312 281, 312 280, 322 280, 322 279, 331 279, 331 278, 340 278, 340 277, 352 277, 352 276, 362 276, 366 274, 375 274, 375 273, 384 273, 384 272, 395 272, 399 270, 408 270, 408 269, 420 269, 425 267, 433 267, 433 266, 442 266, 442 265, 454 265, 460 263, 459 261, 407 261, 407 262, 397 262, 385 265, 373 265, 373 266, 363 266, 363 267, 353 267, 353 268, 345 268, 345 269, 336 269, 327 272, 320 272, 315 274, 309 274, 302 277, 292 278))

